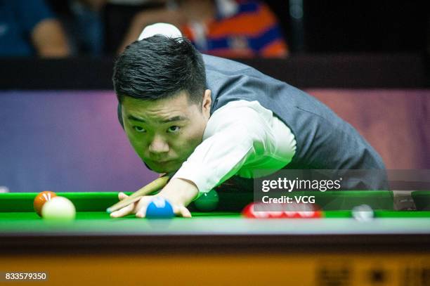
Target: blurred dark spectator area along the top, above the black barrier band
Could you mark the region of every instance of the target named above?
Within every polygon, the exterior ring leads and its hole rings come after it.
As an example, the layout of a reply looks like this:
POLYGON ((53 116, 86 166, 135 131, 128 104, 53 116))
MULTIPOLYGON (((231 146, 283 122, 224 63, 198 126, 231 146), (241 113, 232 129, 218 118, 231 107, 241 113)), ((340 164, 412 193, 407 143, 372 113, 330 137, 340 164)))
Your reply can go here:
POLYGON ((426 1, 2 0, 0 9, 0 56, 115 55, 153 22, 231 56, 430 50, 426 1))

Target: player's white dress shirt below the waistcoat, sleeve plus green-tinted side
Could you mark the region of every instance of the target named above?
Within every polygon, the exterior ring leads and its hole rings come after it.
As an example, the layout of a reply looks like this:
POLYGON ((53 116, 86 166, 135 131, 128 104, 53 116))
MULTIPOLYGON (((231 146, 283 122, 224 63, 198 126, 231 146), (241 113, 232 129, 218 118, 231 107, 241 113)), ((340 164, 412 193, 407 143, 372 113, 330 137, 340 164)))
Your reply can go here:
POLYGON ((203 141, 173 178, 184 178, 209 192, 233 175, 256 178, 273 174, 291 162, 294 134, 257 101, 236 100, 216 110, 203 141))

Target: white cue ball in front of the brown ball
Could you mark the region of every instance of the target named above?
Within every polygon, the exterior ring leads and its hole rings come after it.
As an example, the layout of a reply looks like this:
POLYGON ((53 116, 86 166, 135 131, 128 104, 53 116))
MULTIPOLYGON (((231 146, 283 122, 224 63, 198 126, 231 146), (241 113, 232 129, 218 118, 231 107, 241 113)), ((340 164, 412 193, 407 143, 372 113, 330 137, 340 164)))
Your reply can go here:
POLYGON ((49 220, 72 221, 76 216, 74 204, 65 197, 53 197, 45 202, 42 217, 49 220))

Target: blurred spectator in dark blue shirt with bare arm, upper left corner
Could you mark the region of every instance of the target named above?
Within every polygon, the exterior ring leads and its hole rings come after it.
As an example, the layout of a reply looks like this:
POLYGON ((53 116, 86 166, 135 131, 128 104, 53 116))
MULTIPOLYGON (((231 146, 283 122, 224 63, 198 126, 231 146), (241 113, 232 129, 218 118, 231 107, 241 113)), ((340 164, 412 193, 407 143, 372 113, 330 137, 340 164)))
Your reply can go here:
POLYGON ((0 56, 64 57, 63 29, 44 0, 0 0, 0 56))

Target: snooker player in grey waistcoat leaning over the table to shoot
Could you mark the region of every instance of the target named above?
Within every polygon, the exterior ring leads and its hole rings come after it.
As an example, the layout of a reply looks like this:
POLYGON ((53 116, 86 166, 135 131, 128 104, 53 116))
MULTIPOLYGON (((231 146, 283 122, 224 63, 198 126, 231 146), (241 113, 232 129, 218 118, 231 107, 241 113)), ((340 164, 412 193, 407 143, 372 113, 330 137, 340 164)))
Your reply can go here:
MULTIPOLYGON (((199 53, 173 25, 146 27, 117 58, 113 83, 119 121, 138 156, 152 171, 174 173, 157 195, 178 216, 191 216, 187 206, 200 193, 257 170, 384 169, 369 143, 323 103, 252 67, 199 53)), ((150 199, 111 216, 143 217, 150 199)))

